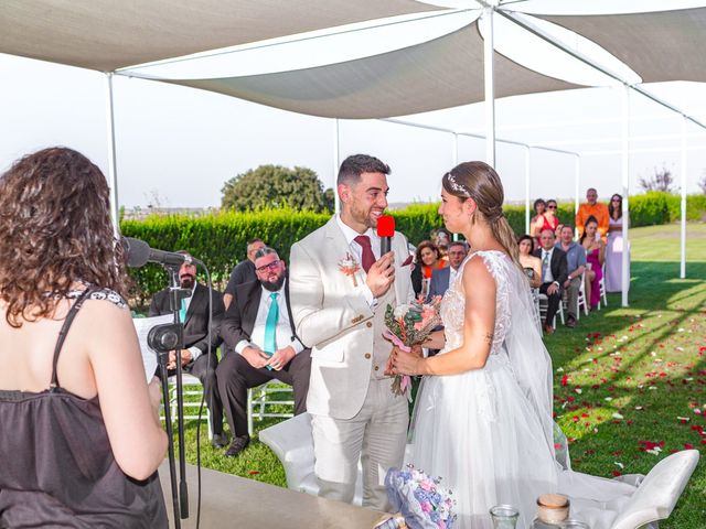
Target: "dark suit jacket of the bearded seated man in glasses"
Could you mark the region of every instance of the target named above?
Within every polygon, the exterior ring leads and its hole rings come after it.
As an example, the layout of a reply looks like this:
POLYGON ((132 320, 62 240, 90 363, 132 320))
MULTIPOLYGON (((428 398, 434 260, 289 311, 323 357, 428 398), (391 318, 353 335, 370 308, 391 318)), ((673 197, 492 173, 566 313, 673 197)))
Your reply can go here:
MULTIPOLYGON (((221 322, 221 337, 225 342, 228 350, 234 350, 235 346, 243 339, 249 342, 261 298, 263 287, 259 280, 236 285, 233 302, 221 322)), ((292 339, 298 338, 295 331, 295 319, 291 315, 291 305, 289 303, 289 278, 285 282, 285 302, 287 304, 291 337, 292 339)))

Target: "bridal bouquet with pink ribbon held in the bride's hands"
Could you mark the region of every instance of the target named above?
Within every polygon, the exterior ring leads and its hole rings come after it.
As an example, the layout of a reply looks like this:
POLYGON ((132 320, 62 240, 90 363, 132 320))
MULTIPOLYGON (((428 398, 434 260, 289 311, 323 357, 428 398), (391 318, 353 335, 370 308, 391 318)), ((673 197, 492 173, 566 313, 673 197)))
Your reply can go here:
MULTIPOLYGON (((435 296, 429 303, 413 301, 393 309, 387 305, 385 311, 385 332, 383 336, 389 339, 402 350, 409 353, 413 345, 422 344, 429 333, 441 323, 439 304, 441 296, 435 296)), ((395 375, 393 380, 393 393, 405 395, 411 385, 408 375, 395 375)), ((407 393, 411 402, 411 393, 407 393)))

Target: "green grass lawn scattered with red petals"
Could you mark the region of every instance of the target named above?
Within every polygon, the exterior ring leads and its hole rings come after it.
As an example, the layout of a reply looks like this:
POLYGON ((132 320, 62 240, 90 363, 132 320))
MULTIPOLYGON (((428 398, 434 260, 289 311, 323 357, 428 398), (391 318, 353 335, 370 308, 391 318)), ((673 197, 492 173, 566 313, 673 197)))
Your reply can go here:
MULTIPOLYGON (((570 440, 575 469, 611 477, 646 474, 673 451, 706 453, 706 225, 687 227, 687 279, 678 279, 678 226, 631 230, 630 306, 608 306, 575 330, 547 337, 554 359, 556 420, 570 440), (648 452, 645 449, 654 449, 648 452)), ((256 430, 276 420, 256 423, 256 430)), ((195 463, 195 422, 186 455, 195 463)), ((285 486, 277 457, 255 439, 235 460, 207 442, 205 467, 285 486)), ((706 463, 699 462, 661 527, 706 527, 706 463)))

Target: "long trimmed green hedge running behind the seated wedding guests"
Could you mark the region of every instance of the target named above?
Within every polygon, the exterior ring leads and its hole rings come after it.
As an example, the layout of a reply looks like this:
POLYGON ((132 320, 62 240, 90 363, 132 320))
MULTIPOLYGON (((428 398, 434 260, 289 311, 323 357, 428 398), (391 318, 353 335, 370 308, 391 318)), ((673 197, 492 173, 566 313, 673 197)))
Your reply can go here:
MULTIPOLYGON (((405 209, 391 212, 396 227, 417 244, 428 239, 432 229, 443 225, 437 213, 438 204, 413 204, 405 209)), ((525 231, 524 205, 507 205, 505 217, 516 234, 525 231)), ((561 222, 574 223, 574 204, 558 207, 561 222)), ((630 219, 633 227, 668 224, 678 220, 681 197, 668 193, 652 192, 630 198, 630 219)), ((534 214, 533 214, 534 216, 534 214)), ((152 215, 143 220, 122 220, 122 235, 145 240, 152 248, 186 250, 204 261, 217 288, 225 288, 233 267, 245 259, 247 241, 261 238, 277 249, 282 259, 289 259, 293 242, 323 226, 329 214, 268 209, 257 213, 223 212, 211 215, 152 215)), ((691 195, 687 199, 687 218, 706 218, 706 196, 691 195)), ((154 292, 168 284, 168 277, 157 264, 130 270, 136 282, 135 300, 145 306, 154 292)))

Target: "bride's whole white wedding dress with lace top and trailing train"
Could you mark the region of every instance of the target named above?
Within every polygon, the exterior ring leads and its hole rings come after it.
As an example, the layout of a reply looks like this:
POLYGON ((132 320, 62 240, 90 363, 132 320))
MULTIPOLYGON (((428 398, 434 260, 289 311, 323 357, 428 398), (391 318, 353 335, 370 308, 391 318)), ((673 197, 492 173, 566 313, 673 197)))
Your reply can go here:
POLYGON ((517 527, 526 528, 545 493, 600 500, 631 494, 630 485, 569 469, 560 432, 555 442, 552 360, 538 315, 526 277, 505 253, 477 251, 463 261, 441 303, 446 346, 439 355, 463 343, 462 274, 473 258, 483 259, 496 285, 490 356, 483 369, 424 378, 411 463, 452 489, 456 527, 467 529, 492 527, 488 510, 499 504, 518 508, 517 527))

